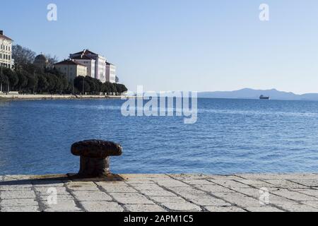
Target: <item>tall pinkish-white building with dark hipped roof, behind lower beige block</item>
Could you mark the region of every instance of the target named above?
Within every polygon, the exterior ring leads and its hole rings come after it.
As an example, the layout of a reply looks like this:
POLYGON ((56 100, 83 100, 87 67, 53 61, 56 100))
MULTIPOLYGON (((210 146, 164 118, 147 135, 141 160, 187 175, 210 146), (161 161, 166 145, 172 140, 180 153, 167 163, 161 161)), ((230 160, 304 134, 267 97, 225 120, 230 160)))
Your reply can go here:
MULTIPOLYGON (((81 60, 83 57, 88 57, 90 59, 95 60, 95 77, 98 80, 102 81, 102 83, 106 82, 106 58, 102 57, 100 54, 95 54, 90 52, 88 49, 84 49, 82 52, 77 52, 75 54, 70 54, 70 58, 74 59, 75 61, 81 60)), ((83 63, 81 63, 83 64, 83 63)), ((90 61, 90 67, 93 68, 93 61, 90 61)), ((85 64, 84 64, 85 65, 85 64)), ((89 71, 89 70, 88 70, 89 71)), ((90 71, 91 77, 93 71, 90 71)))

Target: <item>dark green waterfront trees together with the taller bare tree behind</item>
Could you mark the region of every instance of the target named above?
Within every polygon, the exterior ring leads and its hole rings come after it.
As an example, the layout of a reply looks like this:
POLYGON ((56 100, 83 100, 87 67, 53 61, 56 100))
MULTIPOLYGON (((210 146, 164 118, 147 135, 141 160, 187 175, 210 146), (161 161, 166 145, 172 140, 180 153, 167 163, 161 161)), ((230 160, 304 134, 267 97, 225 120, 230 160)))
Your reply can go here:
MULTIPOLYGON (((35 53, 30 49, 13 46, 14 70, 0 67, 0 91, 50 94, 124 93, 127 88, 118 83, 102 83, 98 79, 79 76, 69 81, 54 67, 40 69, 33 64, 35 53)), ((53 62, 55 57, 50 59, 53 62)))

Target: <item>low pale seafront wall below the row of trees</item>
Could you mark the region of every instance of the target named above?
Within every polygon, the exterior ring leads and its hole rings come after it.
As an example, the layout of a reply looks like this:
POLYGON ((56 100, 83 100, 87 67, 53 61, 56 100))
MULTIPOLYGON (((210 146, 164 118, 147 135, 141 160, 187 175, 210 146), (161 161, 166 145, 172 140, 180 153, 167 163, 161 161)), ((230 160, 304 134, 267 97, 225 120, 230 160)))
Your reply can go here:
POLYGON ((18 95, 0 94, 0 100, 66 100, 66 99, 121 99, 114 95, 18 95))

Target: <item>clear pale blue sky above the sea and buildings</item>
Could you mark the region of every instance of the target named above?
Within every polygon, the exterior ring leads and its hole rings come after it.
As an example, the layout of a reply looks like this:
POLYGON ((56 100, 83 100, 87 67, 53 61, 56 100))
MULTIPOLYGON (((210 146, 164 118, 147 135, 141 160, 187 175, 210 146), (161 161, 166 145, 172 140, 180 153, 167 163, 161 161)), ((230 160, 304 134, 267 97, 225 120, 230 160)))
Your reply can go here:
POLYGON ((277 88, 318 93, 317 0, 11 0, 0 29, 64 59, 88 48, 131 90, 277 88), (47 21, 47 4, 58 7, 47 21), (259 5, 270 21, 259 20, 259 5))

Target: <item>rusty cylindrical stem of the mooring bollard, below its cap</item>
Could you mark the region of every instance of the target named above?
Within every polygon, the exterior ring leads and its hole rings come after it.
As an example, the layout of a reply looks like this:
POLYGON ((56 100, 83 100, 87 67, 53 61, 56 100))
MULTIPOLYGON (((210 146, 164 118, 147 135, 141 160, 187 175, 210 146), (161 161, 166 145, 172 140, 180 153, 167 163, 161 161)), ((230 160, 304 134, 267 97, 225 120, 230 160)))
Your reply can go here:
POLYGON ((81 156, 80 170, 77 177, 107 177, 110 174, 110 157, 92 158, 81 156))

